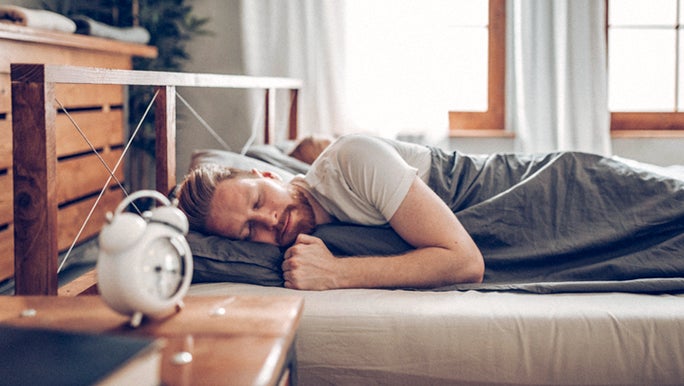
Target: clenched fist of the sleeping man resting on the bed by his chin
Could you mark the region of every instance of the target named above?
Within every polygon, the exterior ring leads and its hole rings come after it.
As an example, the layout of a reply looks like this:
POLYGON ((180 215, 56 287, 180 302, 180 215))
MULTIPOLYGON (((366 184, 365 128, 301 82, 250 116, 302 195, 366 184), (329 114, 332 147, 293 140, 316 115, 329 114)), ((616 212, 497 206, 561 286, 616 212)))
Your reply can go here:
POLYGON ((285 251, 284 257, 285 287, 304 290, 339 288, 339 259, 318 237, 300 234, 294 245, 285 251))

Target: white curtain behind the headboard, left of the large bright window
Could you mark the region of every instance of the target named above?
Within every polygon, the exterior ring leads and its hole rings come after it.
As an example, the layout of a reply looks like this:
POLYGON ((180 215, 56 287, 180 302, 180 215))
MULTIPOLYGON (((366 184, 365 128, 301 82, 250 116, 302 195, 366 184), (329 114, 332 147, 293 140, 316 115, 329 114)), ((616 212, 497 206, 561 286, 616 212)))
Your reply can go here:
MULTIPOLYGON (((246 74, 302 79, 300 133, 335 133, 345 116, 344 7, 318 0, 242 0, 240 5, 246 74)), ((253 104, 256 114, 264 102, 257 98, 253 104)), ((278 129, 286 118, 282 112, 277 111, 278 129)))

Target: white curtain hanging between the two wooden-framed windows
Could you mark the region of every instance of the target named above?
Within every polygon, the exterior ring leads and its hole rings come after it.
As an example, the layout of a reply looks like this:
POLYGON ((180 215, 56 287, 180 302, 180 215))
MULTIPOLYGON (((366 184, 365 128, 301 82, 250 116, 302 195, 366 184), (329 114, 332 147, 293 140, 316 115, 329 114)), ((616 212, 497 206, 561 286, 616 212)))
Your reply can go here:
POLYGON ((609 155, 605 4, 509 0, 507 125, 525 152, 609 155))

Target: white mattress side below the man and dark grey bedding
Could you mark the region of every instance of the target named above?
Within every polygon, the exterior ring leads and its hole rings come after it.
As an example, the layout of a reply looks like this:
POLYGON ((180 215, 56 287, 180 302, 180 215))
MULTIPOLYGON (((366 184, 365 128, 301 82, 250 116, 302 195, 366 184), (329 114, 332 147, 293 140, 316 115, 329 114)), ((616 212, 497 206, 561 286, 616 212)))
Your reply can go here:
POLYGON ((299 385, 684 383, 684 296, 294 291, 305 298, 299 385))

